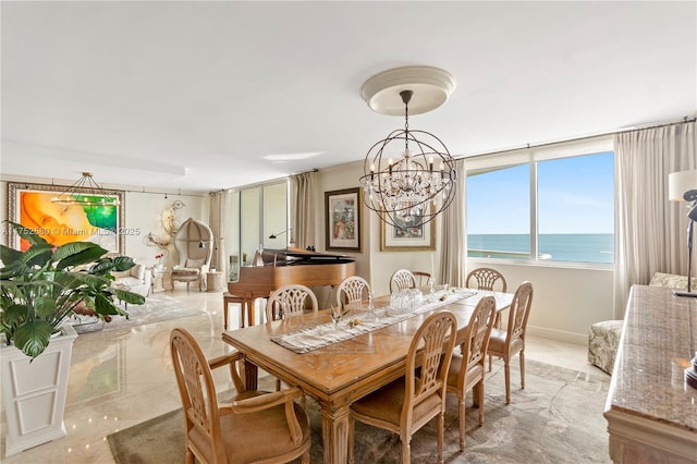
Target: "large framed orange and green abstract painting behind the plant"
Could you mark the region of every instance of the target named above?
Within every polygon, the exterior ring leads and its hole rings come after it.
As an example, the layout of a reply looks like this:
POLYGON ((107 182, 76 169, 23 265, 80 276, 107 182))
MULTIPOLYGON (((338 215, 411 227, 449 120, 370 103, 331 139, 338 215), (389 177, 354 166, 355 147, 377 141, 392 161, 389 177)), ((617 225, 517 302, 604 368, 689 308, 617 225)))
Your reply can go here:
MULTIPOLYGON (((69 242, 94 242, 108 252, 125 253, 123 191, 109 190, 109 196, 118 197, 117 206, 83 206, 53 203, 51 199, 68 186, 8 182, 8 219, 38 233, 54 246, 69 242)), ((71 187, 73 190, 73 187, 71 187)), ((80 187, 74 188, 81 193, 80 187)), ((93 203, 101 195, 85 190, 93 203)), ((103 195, 106 196, 106 195, 103 195)), ((26 251, 29 243, 20 239, 14 229, 8 228, 8 244, 26 251)), ((138 231, 131 231, 132 234, 138 231)))

